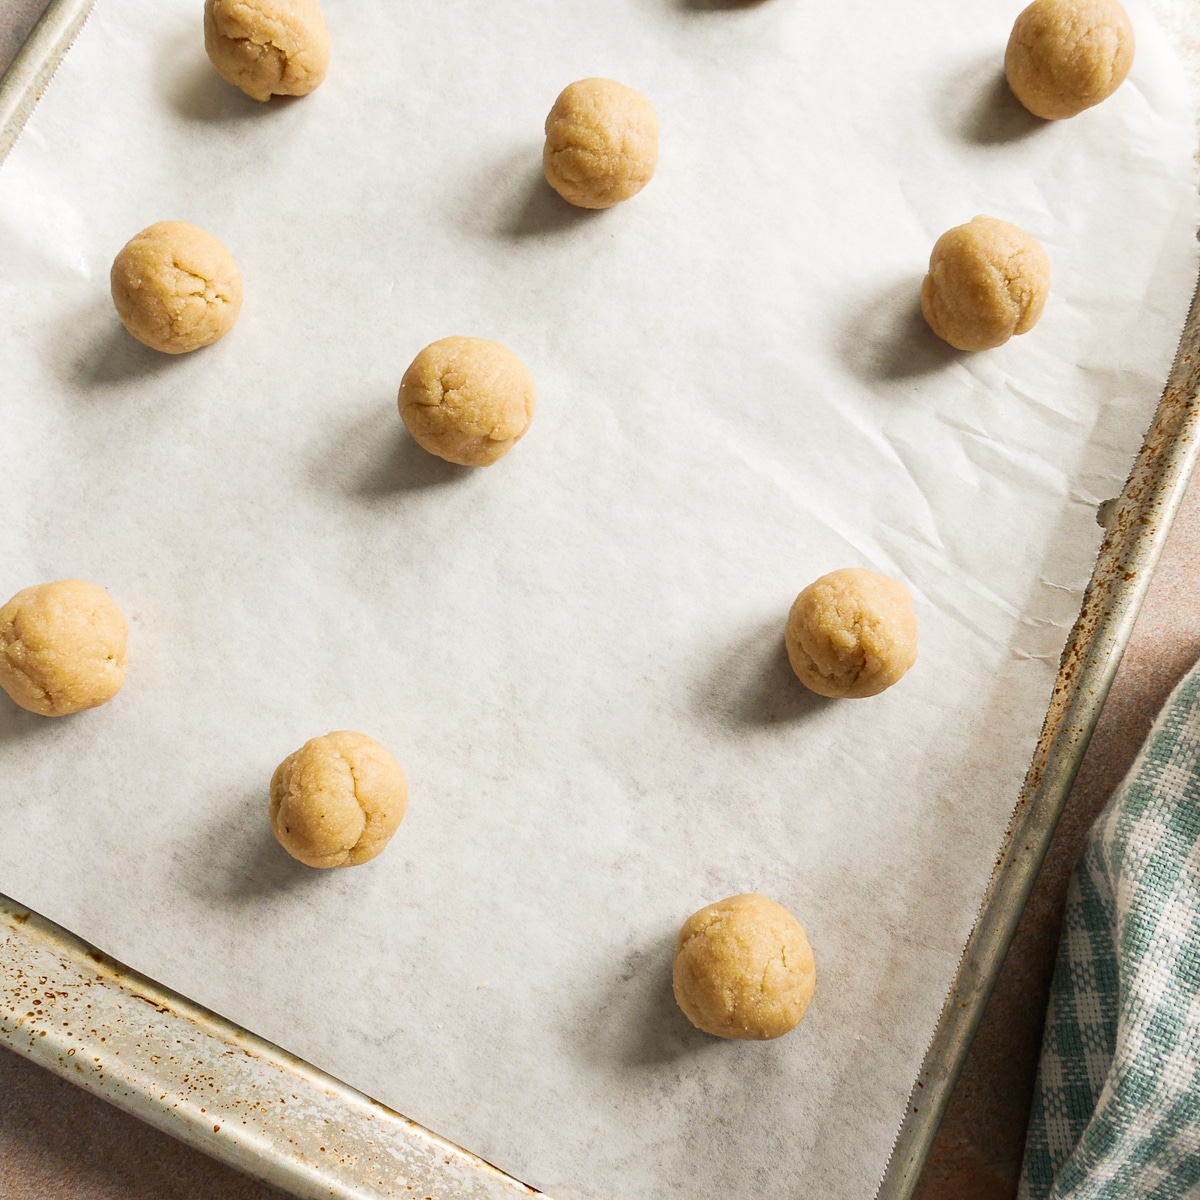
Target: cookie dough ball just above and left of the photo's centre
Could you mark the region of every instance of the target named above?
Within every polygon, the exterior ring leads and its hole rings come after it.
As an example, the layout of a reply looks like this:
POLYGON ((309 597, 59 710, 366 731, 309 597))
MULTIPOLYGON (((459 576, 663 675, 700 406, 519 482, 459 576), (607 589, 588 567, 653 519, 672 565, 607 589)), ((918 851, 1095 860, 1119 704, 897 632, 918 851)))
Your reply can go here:
POLYGON ((524 437, 536 394, 526 365, 499 342, 443 337, 400 382, 400 415, 430 454, 486 467, 524 437))

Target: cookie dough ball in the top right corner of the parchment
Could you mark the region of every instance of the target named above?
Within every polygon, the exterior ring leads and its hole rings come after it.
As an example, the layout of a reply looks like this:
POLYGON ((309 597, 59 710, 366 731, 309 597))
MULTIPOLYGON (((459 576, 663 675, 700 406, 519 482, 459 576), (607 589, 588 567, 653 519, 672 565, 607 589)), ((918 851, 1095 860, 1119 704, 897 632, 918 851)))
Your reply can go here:
POLYGON ((1004 74, 1034 116, 1062 120, 1108 100, 1129 74, 1133 50, 1117 0, 1033 0, 1013 25, 1004 74))

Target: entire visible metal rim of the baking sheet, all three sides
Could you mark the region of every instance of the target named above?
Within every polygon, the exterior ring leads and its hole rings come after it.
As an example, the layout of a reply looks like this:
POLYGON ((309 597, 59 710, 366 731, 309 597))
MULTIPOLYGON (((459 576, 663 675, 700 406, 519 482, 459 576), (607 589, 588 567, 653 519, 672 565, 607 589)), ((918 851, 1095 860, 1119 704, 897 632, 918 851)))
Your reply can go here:
MULTIPOLYGON (((0 79, 0 163, 94 0, 50 0, 0 79)), ((1120 498, 1012 823, 876 1200, 907 1200, 1116 676, 1200 433, 1200 288, 1120 498)), ((0 895, 0 1045, 295 1196, 539 1195, 324 1072, 0 895)))

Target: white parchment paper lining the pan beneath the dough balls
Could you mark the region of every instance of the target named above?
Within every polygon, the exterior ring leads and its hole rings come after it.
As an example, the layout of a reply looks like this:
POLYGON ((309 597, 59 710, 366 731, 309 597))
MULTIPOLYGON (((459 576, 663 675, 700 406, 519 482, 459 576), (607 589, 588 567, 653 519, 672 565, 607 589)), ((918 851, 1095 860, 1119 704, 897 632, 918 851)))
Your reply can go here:
POLYGON ((1043 125, 1000 0, 325 7, 326 84, 258 106, 193 0, 100 0, 0 172, 0 592, 94 580, 132 649, 106 708, 0 706, 0 889, 553 1195, 868 1196, 1195 280, 1177 64, 1133 2, 1130 80, 1043 125), (662 125, 606 214, 540 179, 589 74, 662 125), (976 212, 1055 278, 968 356, 916 298, 976 212), (179 359, 108 299, 163 218, 246 284, 179 359), (486 470, 395 410, 452 332, 540 389, 486 470), (781 632, 844 565, 908 584, 922 650, 833 703, 781 632), (266 782, 332 728, 412 803, 317 872, 266 782), (719 1043, 673 937, 751 889, 816 998, 719 1043))

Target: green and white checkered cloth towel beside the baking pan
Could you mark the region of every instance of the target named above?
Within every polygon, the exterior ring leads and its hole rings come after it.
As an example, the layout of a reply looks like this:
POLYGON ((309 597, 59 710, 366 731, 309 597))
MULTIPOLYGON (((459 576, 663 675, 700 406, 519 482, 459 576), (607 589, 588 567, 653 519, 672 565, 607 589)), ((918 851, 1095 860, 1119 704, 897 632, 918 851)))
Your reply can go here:
POLYGON ((1075 866, 1019 1198, 1176 1200, 1198 1183, 1200 666, 1075 866))

